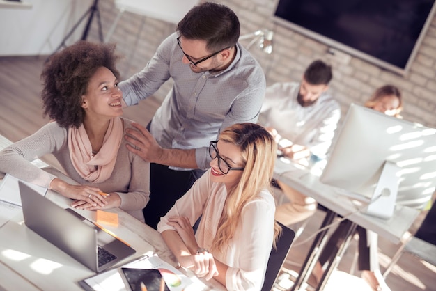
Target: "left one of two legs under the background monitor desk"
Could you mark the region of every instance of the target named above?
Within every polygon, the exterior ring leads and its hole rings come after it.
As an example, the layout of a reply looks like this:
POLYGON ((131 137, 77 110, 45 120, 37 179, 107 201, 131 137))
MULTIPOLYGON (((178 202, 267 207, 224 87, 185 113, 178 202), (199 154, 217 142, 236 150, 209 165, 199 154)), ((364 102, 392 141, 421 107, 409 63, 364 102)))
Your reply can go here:
MULTIPOLYGON (((327 214, 325 214, 325 218, 324 221, 322 221, 320 229, 332 224, 332 221, 335 217, 336 217, 335 212, 333 212, 332 210, 327 210, 327 214)), ((299 288, 301 288, 302 285, 304 285, 309 279, 309 276, 313 271, 313 267, 315 267, 315 264, 320 256, 320 249, 322 249, 328 238, 327 237, 328 230, 329 228, 325 230, 321 230, 320 233, 316 235, 315 240, 313 241, 313 244, 311 246, 311 249, 309 249, 309 253, 306 256, 306 260, 304 260, 302 269, 299 271, 298 278, 295 279, 295 284, 293 285, 293 288, 291 288, 292 291, 299 290, 299 288)))

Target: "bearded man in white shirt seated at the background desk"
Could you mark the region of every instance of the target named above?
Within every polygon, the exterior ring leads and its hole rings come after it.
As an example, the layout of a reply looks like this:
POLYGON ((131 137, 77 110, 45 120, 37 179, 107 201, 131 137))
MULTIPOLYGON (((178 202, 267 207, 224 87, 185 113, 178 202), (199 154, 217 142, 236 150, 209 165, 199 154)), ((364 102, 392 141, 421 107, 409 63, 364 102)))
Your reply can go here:
MULTIPOLYGON (((318 60, 306 68, 301 82, 267 88, 261 118, 285 157, 302 164, 325 159, 341 117, 338 102, 327 93, 331 79, 332 68, 318 60)), ((280 181, 277 184, 290 200, 277 207, 278 221, 290 225, 316 211, 316 200, 280 181)))

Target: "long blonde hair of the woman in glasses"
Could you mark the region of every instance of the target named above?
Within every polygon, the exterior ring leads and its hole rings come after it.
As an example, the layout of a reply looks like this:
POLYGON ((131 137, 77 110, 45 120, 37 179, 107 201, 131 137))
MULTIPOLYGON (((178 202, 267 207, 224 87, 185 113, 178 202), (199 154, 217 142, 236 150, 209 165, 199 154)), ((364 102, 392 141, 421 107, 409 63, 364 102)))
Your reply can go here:
MULTIPOLYGON (((235 234, 244 205, 256 199, 260 191, 270 189, 277 146, 271 134, 255 123, 232 125, 221 132, 219 140, 238 146, 245 162, 241 179, 228 192, 219 219, 212 250, 221 251, 235 234)), ((274 247, 280 233, 281 227, 275 222, 274 247)))

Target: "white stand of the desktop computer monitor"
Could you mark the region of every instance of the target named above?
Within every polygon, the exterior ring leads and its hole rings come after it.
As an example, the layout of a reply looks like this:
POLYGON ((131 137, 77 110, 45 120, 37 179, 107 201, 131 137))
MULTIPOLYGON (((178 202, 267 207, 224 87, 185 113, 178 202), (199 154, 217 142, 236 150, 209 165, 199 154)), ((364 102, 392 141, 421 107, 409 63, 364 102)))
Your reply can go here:
POLYGON ((389 219, 394 214, 396 197, 400 176, 400 167, 393 162, 386 161, 382 169, 382 174, 375 187, 371 203, 364 213, 382 219, 389 219))

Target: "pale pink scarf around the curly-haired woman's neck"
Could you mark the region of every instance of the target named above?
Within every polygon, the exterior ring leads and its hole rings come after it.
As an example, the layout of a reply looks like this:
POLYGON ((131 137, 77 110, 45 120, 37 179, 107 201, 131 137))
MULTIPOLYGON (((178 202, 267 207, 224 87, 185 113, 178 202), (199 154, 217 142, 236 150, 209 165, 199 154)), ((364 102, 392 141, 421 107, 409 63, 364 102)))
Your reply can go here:
POLYGON ((112 118, 104 134, 102 148, 93 155, 91 141, 82 124, 79 128, 68 129, 68 149, 72 166, 77 173, 89 182, 101 183, 107 180, 116 162, 118 148, 123 140, 123 122, 121 118, 112 118))

